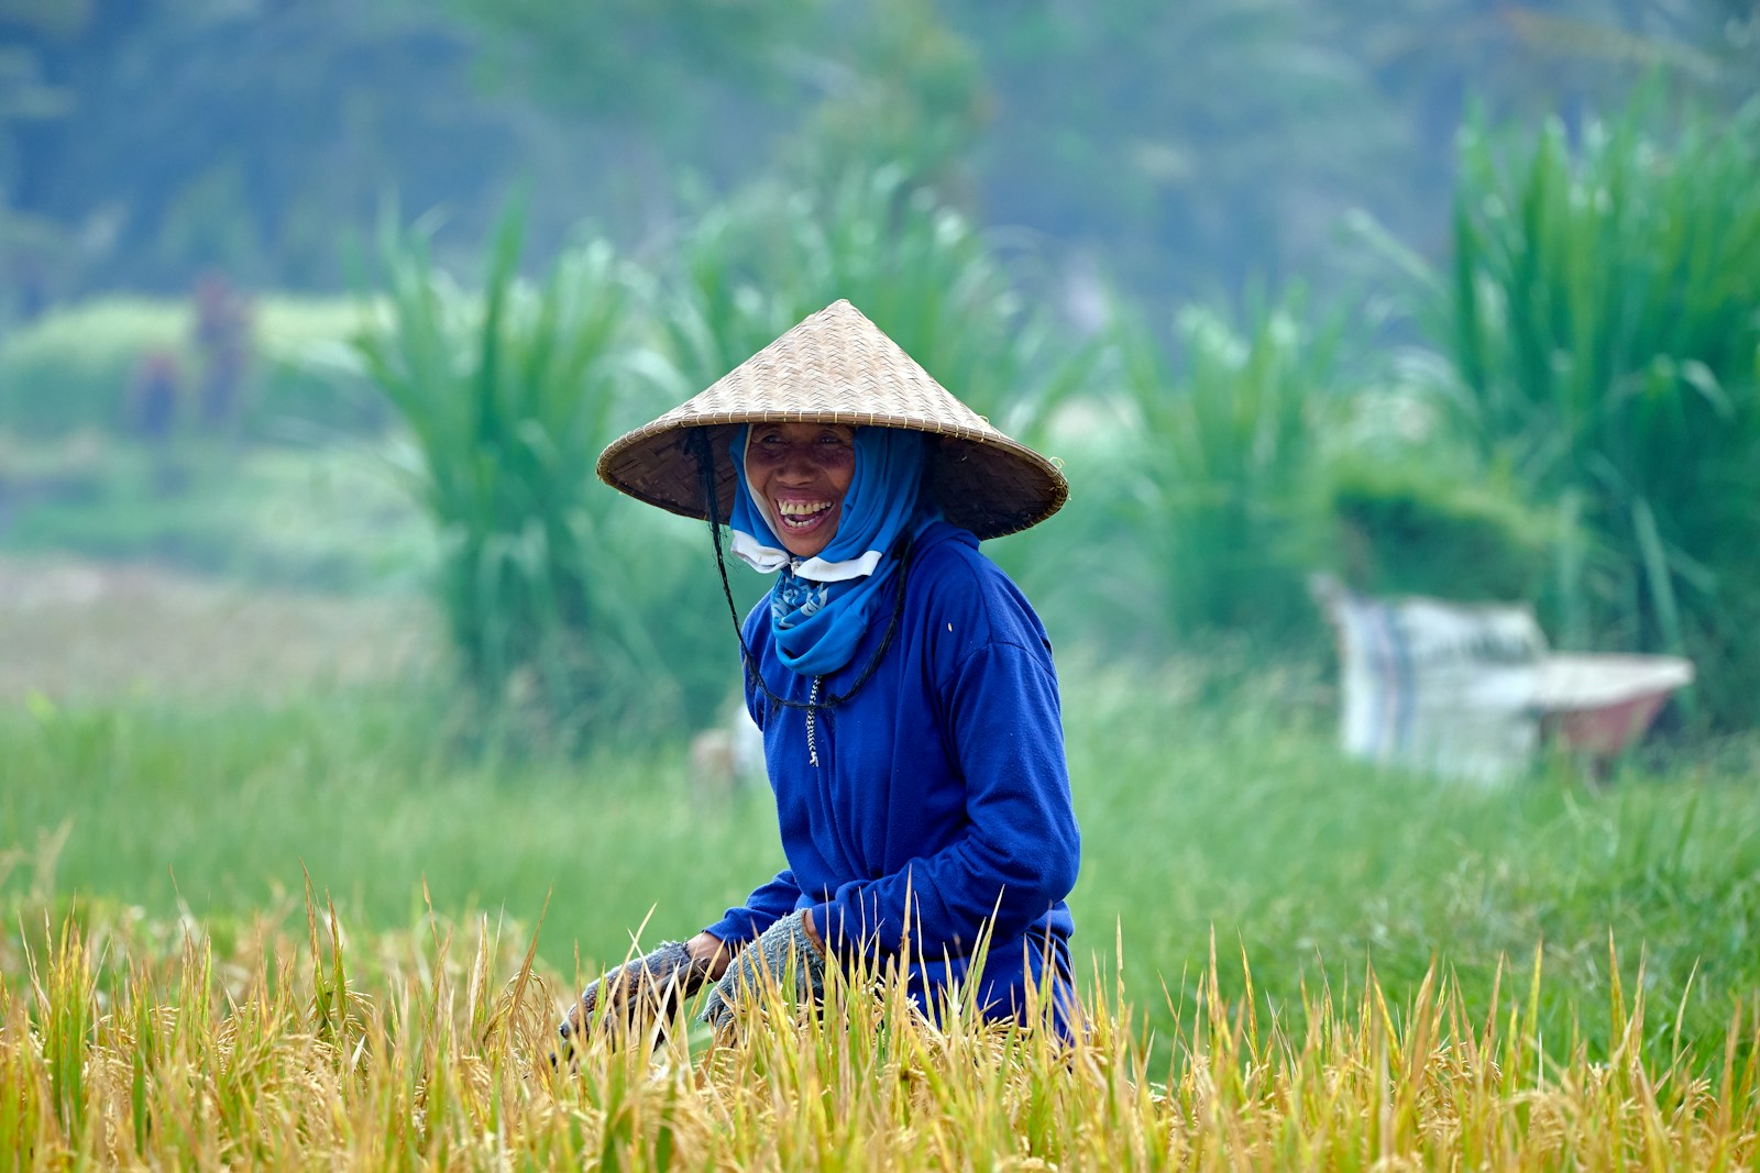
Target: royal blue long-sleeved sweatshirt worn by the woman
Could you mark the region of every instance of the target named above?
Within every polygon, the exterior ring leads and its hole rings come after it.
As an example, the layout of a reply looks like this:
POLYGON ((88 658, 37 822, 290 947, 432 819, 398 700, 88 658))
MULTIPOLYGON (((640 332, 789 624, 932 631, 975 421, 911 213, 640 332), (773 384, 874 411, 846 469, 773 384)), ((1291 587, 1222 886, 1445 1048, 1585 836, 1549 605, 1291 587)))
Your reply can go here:
MULTIPOLYGON (((868 667, 891 619, 876 610, 820 696, 868 667)), ((767 601, 744 633, 771 691, 806 702, 813 681, 778 659, 767 601)), ((912 969, 935 981, 963 978, 987 932, 993 999, 1040 980, 1051 953, 1067 971, 1081 837, 1051 644, 970 533, 935 522, 919 535, 892 644, 847 703, 810 723, 750 682, 746 700, 788 867, 708 932, 748 941, 810 907, 834 953, 884 960, 908 939, 912 969)))

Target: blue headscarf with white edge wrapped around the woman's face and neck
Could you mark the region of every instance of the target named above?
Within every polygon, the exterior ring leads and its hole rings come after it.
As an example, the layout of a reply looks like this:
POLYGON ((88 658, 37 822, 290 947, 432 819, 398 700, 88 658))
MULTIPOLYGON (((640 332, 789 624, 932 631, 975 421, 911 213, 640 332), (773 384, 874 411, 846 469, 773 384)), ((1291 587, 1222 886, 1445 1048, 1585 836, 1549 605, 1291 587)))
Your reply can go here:
MULTIPOLYGON (((855 471, 843 494, 838 533, 815 557, 794 559, 771 531, 746 484, 741 426, 734 457, 734 554, 755 570, 780 570, 771 587, 771 631, 783 665, 801 675, 827 675, 850 661, 875 607, 889 598, 898 559, 892 545, 912 524, 922 484, 922 433, 899 427, 855 429, 855 471)), ((919 519, 922 521, 922 519, 919 519)))

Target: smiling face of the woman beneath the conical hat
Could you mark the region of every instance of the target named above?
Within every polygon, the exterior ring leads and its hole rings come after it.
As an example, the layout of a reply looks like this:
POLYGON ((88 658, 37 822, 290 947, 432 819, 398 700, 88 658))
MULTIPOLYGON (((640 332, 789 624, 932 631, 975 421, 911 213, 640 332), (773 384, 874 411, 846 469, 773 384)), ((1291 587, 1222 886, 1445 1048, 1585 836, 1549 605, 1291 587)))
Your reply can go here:
POLYGON ((813 557, 838 533, 855 477, 855 429, 843 424, 753 424, 746 484, 771 529, 796 557, 813 557))

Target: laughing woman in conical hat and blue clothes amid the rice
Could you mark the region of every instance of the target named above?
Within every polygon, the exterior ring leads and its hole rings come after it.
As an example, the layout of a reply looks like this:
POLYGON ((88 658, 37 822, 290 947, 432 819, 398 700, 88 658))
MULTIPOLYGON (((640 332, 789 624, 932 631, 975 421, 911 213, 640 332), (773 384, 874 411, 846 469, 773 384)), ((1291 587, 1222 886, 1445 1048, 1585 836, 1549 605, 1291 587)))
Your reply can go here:
POLYGON ((736 626, 788 867, 590 985, 561 1034, 706 981, 722 1027, 762 971, 813 997, 855 960, 903 958, 933 1016, 980 941, 980 1011, 1024 1018, 1033 987, 1067 1031, 1081 848, 1051 644, 979 552, 1056 512, 1061 473, 840 301, 614 441, 598 475, 727 521, 734 554, 778 575, 736 626))

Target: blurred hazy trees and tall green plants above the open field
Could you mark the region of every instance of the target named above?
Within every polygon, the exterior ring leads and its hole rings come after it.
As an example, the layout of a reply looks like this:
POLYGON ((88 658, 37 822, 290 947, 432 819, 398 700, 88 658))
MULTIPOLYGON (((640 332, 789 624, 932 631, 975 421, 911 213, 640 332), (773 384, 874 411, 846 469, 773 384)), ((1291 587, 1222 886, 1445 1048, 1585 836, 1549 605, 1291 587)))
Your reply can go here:
POLYGON ((1334 570, 1748 728, 1756 21, 4 0, 0 550, 428 584, 521 735, 702 723, 700 535, 586 470, 850 297, 1067 463, 996 554, 1061 640, 1324 659, 1334 570))

